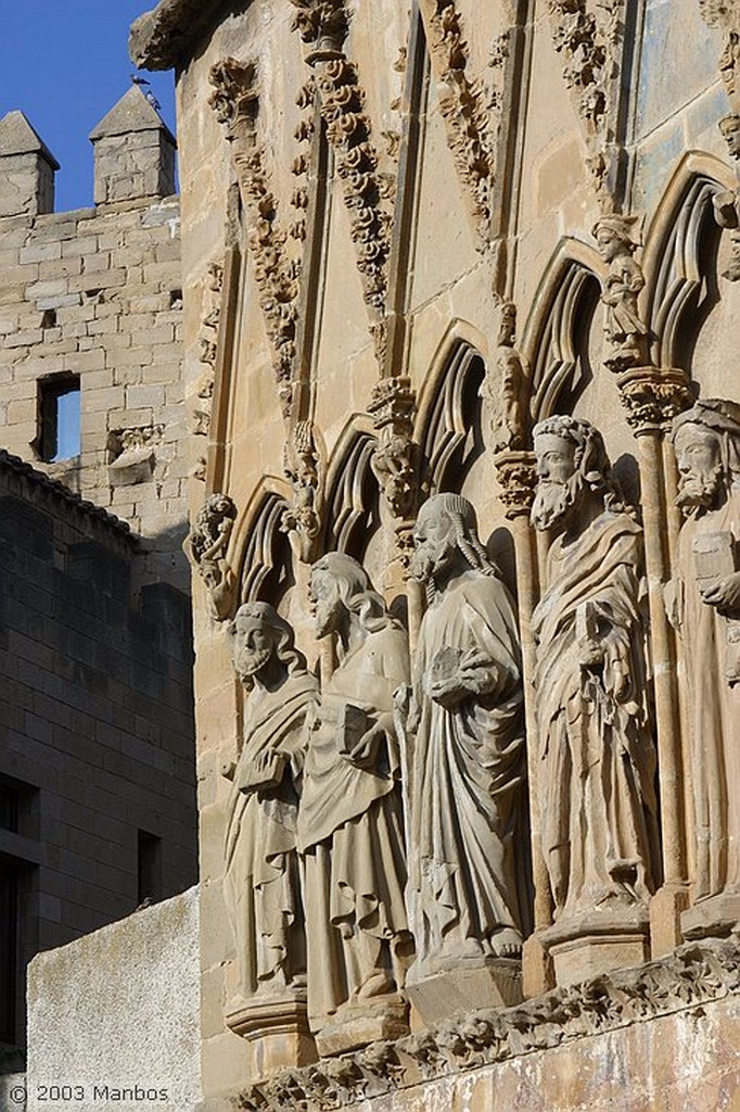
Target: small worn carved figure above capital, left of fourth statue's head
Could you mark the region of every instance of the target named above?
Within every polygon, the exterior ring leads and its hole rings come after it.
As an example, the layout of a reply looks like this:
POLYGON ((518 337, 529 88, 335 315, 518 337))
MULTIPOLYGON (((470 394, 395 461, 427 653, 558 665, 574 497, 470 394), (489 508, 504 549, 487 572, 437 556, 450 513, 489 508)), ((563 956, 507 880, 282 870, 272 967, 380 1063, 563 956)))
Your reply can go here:
POLYGON ((487 375, 481 397, 490 410, 493 451, 520 451, 524 447, 527 426, 526 383, 521 355, 514 347, 517 307, 506 301, 501 308, 499 342, 494 355, 494 374, 487 375))

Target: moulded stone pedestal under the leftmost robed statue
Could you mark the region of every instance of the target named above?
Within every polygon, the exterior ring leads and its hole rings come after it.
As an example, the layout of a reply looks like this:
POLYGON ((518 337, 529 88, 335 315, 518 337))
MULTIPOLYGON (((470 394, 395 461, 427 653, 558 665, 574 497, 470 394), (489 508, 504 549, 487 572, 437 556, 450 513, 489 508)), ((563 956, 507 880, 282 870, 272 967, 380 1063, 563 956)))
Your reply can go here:
POLYGON ((249 1044, 250 1072, 257 1078, 310 1065, 318 1059, 304 995, 259 1001, 237 997, 227 1005, 224 1020, 249 1044))

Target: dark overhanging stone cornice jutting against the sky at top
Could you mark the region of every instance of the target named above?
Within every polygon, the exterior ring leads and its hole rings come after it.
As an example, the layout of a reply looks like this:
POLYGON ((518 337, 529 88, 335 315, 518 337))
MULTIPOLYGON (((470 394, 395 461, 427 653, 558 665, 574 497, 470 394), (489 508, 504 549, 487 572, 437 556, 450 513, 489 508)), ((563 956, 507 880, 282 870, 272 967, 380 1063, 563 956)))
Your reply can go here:
MULTIPOLYGON (((249 0, 244 0, 247 7, 249 0)), ((139 16, 129 32, 129 54, 139 69, 173 69, 188 60, 226 0, 160 0, 139 16)))

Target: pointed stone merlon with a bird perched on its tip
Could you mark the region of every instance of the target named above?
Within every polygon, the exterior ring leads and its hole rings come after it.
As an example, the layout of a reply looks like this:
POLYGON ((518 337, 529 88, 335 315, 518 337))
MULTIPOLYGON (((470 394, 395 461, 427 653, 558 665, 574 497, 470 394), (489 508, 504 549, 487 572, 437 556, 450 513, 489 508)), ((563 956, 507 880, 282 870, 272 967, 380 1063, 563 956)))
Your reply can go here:
POLYGON ((174 137, 139 86, 92 129, 90 141, 96 205, 174 192, 174 137))

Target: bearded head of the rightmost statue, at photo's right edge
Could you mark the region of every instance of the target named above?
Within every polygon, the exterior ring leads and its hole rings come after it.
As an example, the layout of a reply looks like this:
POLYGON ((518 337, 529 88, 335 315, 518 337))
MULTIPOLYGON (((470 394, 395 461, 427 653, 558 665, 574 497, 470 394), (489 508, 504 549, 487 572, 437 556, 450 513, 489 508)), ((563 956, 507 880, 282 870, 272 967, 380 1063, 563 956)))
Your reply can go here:
POLYGON ((740 483, 740 405, 723 398, 697 401, 674 419, 671 439, 681 512, 694 517, 719 508, 740 483))

